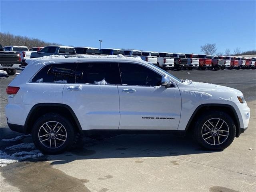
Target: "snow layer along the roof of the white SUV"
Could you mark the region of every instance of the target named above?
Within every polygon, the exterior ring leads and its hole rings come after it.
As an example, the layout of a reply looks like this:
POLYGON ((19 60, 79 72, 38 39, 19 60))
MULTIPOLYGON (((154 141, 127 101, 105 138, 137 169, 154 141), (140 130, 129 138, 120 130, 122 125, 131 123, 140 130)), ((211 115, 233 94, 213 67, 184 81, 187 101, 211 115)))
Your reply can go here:
POLYGON ((32 58, 32 59, 26 59, 27 64, 35 64, 38 61, 42 61, 40 63, 45 64, 46 62, 54 63, 56 62, 76 62, 79 60, 85 60, 85 59, 111 59, 111 60, 137 60, 137 61, 143 61, 140 57, 125 57, 121 54, 118 55, 79 55, 79 56, 63 56, 63 55, 51 55, 51 56, 43 56, 39 58, 32 58), (54 61, 53 61, 54 60, 54 61))

